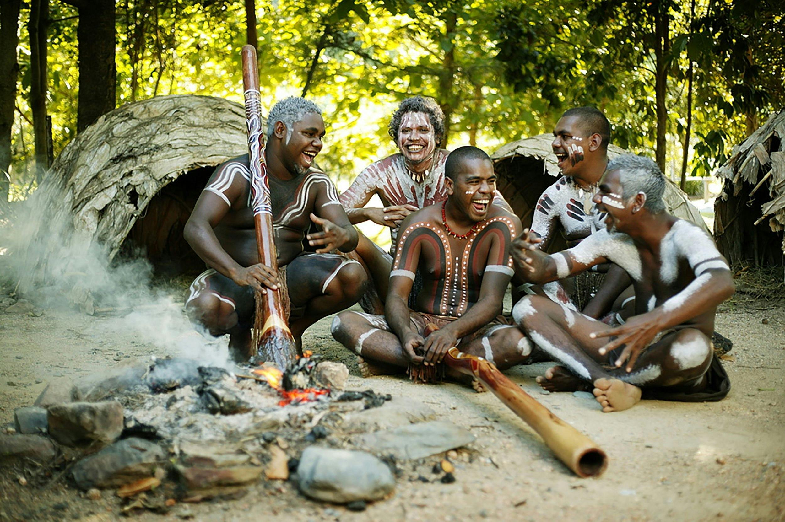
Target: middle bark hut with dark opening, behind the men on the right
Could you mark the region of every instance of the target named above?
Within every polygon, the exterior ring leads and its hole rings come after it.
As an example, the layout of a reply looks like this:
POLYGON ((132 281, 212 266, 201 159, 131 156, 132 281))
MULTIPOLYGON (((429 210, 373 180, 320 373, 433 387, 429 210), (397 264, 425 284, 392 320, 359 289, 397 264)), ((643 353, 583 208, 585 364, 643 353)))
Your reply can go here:
MULTIPOLYGON (((554 180, 550 177, 561 175, 551 142, 553 142, 552 135, 540 134, 503 145, 491 154, 497 172, 502 178, 506 178, 506 186, 500 188, 500 191, 505 198, 509 196, 508 201, 516 214, 521 217, 524 226, 531 224, 531 212, 539 196, 550 184, 553 184, 554 180), (528 161, 522 162, 521 159, 528 159, 528 161), (521 165, 516 166, 516 163, 521 165), (545 177, 545 173, 550 177, 545 177), (533 181, 531 178, 539 179, 533 181), (544 186, 542 186, 543 182, 546 182, 544 186), (521 198, 522 194, 528 197, 521 198)), ((616 145, 608 145, 608 159, 614 159, 626 152, 616 145)), ((673 181, 668 180, 663 199, 670 214, 692 221, 709 232, 699 210, 689 202, 687 195, 673 181)))

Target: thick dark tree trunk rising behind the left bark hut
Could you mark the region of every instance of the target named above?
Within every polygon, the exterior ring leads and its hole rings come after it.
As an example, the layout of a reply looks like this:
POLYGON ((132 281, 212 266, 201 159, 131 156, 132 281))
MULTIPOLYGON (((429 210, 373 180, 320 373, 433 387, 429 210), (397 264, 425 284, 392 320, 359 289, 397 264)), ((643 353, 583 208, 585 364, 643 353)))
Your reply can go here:
POLYGON ((115 108, 115 33, 114 0, 80 6, 77 132, 115 108))

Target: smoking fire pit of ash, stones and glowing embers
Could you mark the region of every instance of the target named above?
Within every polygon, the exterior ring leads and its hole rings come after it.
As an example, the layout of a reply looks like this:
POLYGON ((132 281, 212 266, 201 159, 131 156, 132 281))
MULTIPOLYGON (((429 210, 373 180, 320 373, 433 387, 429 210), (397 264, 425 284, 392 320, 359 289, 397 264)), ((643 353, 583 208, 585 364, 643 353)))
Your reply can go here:
POLYGON ((348 377, 345 365, 306 352, 283 372, 174 358, 55 381, 0 434, 0 468, 25 487, 65 480, 86 498, 115 495, 126 514, 254 487, 276 495, 283 484, 364 509, 393 494, 406 462, 408 480, 455 480, 448 458, 440 476, 423 470, 433 455, 455 459, 472 433, 422 403, 345 390, 348 377))

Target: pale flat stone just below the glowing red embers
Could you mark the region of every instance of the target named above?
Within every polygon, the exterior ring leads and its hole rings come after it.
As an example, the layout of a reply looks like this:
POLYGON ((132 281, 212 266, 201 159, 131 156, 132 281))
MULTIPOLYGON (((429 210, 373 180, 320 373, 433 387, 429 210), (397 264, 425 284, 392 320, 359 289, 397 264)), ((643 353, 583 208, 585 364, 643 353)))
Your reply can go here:
POLYGON ((367 433, 434 419, 436 412, 425 404, 396 397, 383 406, 347 414, 341 429, 345 433, 367 433))

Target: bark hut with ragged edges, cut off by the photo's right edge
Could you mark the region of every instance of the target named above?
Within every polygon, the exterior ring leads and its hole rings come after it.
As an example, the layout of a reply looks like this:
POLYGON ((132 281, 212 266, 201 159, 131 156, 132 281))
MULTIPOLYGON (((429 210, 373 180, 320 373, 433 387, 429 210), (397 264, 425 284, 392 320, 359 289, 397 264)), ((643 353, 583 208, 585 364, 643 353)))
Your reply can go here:
MULTIPOLYGON (((750 234, 737 228, 734 221, 739 216, 742 221, 751 221, 752 228, 768 221, 771 233, 785 230, 785 111, 772 115, 764 126, 737 144, 716 175, 725 180, 722 194, 715 203, 717 243, 740 243, 733 247, 728 244, 731 257, 734 257, 731 261, 748 260, 750 256, 745 254, 749 249, 743 243, 763 239, 758 235, 765 232, 756 230, 750 234), (746 209, 740 206, 742 199, 746 209), (744 212, 739 214, 740 211, 744 212)), ((744 225, 749 227, 750 223, 744 225)), ((765 240, 755 243, 765 243, 765 240)), ((756 265, 765 264, 767 253, 757 245, 751 248, 756 265)), ((785 253, 785 235, 781 250, 785 253)))

